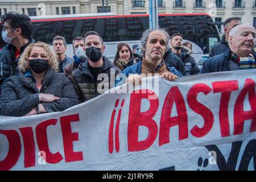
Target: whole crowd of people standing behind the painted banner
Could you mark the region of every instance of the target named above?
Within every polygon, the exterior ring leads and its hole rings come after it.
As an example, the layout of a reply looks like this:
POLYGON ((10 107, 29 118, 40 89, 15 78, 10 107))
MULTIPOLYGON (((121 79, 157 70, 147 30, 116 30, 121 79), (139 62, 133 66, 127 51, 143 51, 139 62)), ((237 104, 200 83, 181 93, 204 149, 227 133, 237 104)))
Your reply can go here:
POLYGON ((147 76, 174 81, 182 76, 256 68, 256 30, 236 17, 224 22, 225 35, 211 49, 201 71, 192 57, 192 44, 183 43, 179 32, 170 37, 162 28, 146 30, 141 45, 119 43, 112 63, 104 56, 104 40, 98 32, 88 31, 73 39, 74 56, 68 57, 62 36, 55 36, 52 49, 31 38, 29 16, 10 12, 2 16, 2 23, 7 44, 0 51, 0 115, 63 111, 125 82, 140 84, 147 76), (116 79, 120 73, 127 78, 116 79))

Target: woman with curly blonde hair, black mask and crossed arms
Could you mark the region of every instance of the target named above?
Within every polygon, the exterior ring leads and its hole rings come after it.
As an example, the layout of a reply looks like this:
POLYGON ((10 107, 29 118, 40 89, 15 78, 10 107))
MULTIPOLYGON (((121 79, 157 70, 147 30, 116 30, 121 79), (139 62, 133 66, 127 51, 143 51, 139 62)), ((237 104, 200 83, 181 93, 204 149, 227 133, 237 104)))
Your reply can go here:
POLYGON ((46 43, 31 43, 18 64, 19 75, 10 77, 2 89, 2 115, 51 113, 78 104, 73 84, 57 73, 58 61, 46 43))

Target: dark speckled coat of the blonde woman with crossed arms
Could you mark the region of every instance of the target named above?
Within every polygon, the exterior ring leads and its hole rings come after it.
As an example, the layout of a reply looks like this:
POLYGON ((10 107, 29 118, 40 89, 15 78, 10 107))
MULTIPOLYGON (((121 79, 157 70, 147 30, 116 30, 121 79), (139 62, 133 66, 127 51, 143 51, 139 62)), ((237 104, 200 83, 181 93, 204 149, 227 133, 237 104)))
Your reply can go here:
MULTIPOLYGON (((48 113, 63 111, 78 104, 72 82, 63 73, 56 73, 53 69, 46 72, 40 93, 53 94, 60 98, 53 102, 42 102, 48 113)), ((7 79, 1 93, 1 115, 26 115, 39 103, 39 90, 31 77, 20 73, 7 79)))

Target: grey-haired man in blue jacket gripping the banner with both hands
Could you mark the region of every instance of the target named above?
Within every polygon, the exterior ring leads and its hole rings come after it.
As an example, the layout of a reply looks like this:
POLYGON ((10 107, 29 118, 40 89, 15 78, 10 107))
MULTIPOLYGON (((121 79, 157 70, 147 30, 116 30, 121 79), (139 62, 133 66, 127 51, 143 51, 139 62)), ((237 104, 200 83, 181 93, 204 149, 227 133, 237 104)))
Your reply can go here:
POLYGON ((144 31, 141 38, 141 45, 145 50, 143 60, 122 71, 127 77, 126 81, 137 85, 141 83, 142 77, 147 76, 160 75, 167 80, 181 77, 182 74, 174 66, 164 63, 163 60, 169 40, 170 36, 162 28, 144 31))

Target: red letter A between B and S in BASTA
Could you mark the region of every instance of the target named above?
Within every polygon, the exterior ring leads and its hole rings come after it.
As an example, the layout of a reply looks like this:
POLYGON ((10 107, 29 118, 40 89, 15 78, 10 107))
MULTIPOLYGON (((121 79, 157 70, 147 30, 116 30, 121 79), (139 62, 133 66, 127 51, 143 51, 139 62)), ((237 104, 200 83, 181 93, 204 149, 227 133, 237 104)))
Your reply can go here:
POLYGON ((185 101, 177 86, 172 87, 164 100, 160 120, 159 146, 170 142, 170 127, 179 126, 179 140, 188 138, 188 115, 185 101), (172 106, 176 104, 177 117, 171 117, 172 106))

